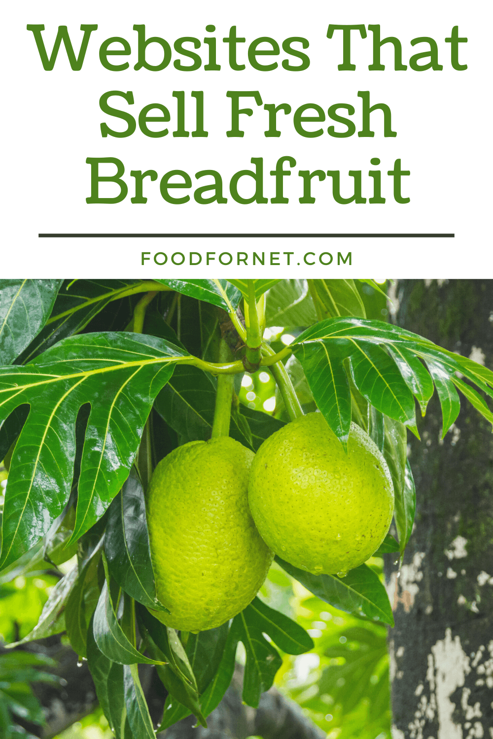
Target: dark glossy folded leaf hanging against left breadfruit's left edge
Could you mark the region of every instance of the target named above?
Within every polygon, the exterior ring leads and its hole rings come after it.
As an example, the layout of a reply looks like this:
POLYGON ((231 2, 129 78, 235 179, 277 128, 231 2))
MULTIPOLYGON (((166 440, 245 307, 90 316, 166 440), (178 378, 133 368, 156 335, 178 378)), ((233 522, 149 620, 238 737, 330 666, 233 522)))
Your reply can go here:
POLYGON ((104 548, 109 572, 120 588, 143 605, 167 610, 157 599, 146 502, 134 470, 109 506, 104 548))

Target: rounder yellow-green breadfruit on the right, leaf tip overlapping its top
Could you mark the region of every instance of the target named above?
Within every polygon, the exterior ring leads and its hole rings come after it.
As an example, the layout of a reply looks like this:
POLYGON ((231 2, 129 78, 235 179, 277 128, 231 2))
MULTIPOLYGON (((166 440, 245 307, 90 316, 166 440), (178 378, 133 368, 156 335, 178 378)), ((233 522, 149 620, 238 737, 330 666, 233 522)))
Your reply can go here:
POLYGON ((348 452, 321 413, 309 413, 268 437, 256 453, 248 502, 262 539, 291 565, 346 573, 380 546, 392 520, 387 463, 351 424, 348 452))

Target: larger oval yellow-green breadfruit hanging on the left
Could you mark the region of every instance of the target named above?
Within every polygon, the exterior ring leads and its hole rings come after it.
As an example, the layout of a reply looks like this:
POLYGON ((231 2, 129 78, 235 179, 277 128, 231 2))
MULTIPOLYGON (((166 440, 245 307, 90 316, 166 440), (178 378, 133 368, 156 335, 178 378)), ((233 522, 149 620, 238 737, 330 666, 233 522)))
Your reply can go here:
MULTIPOLYGON (((245 608, 273 553, 248 508, 254 452, 229 437, 179 446, 157 465, 146 494, 157 597, 167 626, 197 633, 245 608)), ((150 610, 150 609, 149 609, 150 610)))

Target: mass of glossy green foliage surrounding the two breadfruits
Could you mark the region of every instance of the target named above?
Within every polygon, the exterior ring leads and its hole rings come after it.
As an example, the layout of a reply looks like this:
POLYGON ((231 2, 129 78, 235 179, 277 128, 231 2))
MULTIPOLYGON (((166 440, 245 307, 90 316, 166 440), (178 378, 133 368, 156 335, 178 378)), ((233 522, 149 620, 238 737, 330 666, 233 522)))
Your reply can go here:
MULTIPOLYGON (((172 449, 211 437, 221 337, 237 372, 231 436, 256 451, 288 418, 279 392, 273 415, 238 401, 245 398, 241 307, 251 293, 260 323, 265 316, 267 325, 296 336, 291 350, 281 341, 272 349, 262 344, 263 361, 282 350, 304 409, 318 408, 343 445, 350 424, 358 423, 387 460, 398 542, 387 536, 377 556, 401 554, 412 531, 407 429, 418 433, 416 401, 424 414, 436 388, 443 434, 458 414, 457 389, 493 421, 483 398, 493 397, 493 372, 375 320, 387 309, 372 280, 0 281, 0 459, 10 465, 0 582, 56 567, 77 548, 78 565, 61 577, 38 625, 21 641, 67 631, 89 662, 117 739, 154 736, 138 664, 154 666, 168 692, 163 729, 190 712, 205 726, 231 682, 238 644, 246 660, 242 699, 250 706, 258 706, 285 655, 313 649, 304 628, 258 597, 231 622, 199 634, 177 633, 147 610, 166 612, 154 584, 146 486, 172 449), (138 305, 146 293, 143 316, 138 305)), ((272 370, 264 378, 271 395, 273 376, 272 370)), ((340 648, 326 644, 313 698, 313 711, 320 712, 320 695, 330 696, 343 737, 351 736, 358 712, 365 712, 365 739, 387 715, 384 628, 375 621, 393 618, 375 573, 379 561, 339 577, 313 576, 278 560, 325 607, 350 614, 346 641, 340 648)), ((4 701, 0 726, 10 725, 16 706, 39 718, 32 697, 23 695, 4 701)))

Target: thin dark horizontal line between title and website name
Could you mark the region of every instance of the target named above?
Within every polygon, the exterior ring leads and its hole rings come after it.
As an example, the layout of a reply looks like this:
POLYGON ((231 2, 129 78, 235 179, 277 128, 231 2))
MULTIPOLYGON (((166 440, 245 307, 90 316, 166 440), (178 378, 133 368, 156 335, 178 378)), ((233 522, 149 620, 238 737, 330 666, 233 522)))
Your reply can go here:
POLYGON ((38 234, 40 239, 454 239, 455 234, 38 234))

